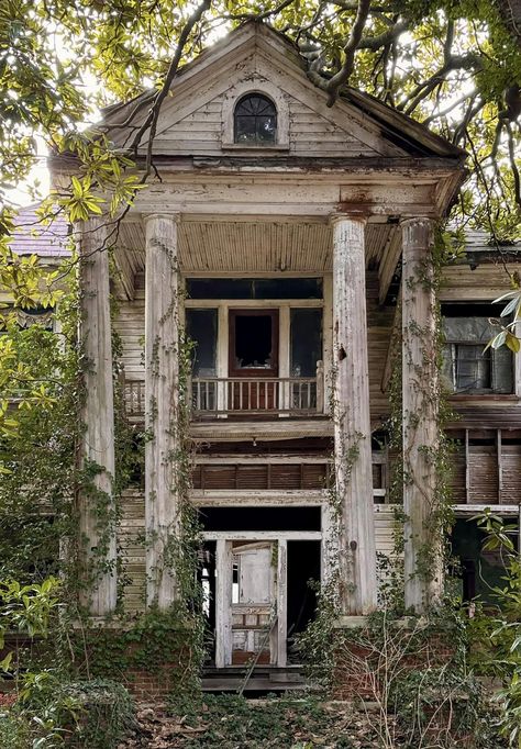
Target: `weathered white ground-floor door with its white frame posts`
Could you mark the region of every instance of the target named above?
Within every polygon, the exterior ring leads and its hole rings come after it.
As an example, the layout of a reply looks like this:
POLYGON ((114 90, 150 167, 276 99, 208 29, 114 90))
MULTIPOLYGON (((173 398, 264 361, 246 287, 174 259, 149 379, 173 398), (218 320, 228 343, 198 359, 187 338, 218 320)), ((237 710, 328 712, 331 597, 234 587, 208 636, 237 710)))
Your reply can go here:
POLYGON ((286 666, 286 541, 218 540, 215 666, 286 666))

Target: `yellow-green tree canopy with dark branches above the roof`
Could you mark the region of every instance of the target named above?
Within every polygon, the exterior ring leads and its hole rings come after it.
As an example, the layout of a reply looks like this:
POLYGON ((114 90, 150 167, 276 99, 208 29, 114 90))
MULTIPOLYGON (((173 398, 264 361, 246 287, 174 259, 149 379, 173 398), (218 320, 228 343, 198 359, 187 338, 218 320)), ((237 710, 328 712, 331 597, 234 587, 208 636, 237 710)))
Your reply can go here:
MULTIPOLYGON (((507 3, 508 4, 508 3, 507 3)), ((228 30, 260 19, 292 38, 310 79, 329 93, 363 89, 424 122, 469 154, 461 195, 465 221, 501 241, 519 235, 521 54, 506 3, 488 0, 2 0, 0 3, 0 189, 26 175, 35 136, 82 164, 58 204, 73 219, 99 212, 97 187, 115 194, 137 185, 86 123, 100 107, 151 90, 147 126, 180 65, 228 30)), ((143 131, 143 132, 142 132, 143 131)), ((123 158, 125 157, 125 158, 123 158)), ((147 177, 153 164, 147 165, 147 177)), ((56 198, 56 197, 55 197, 56 198)), ((4 213, 4 230, 9 222, 4 213)))

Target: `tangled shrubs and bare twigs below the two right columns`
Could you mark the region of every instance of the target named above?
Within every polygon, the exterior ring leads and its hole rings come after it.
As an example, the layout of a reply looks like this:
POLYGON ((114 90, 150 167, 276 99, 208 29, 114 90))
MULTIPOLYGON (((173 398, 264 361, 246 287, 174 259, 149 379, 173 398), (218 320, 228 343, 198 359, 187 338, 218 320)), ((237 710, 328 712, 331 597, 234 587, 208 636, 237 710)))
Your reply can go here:
POLYGON ((467 662, 462 612, 446 603, 428 617, 383 608, 337 640, 336 673, 376 705, 378 746, 501 746, 489 698, 467 662))

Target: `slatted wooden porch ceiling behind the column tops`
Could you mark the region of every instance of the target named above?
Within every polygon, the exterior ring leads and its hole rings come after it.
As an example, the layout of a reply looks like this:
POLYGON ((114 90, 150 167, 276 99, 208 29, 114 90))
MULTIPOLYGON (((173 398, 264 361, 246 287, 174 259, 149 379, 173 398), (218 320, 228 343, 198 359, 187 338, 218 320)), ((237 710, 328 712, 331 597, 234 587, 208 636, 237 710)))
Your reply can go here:
MULTIPOLYGON (((397 244, 395 224, 368 224, 366 262, 377 267, 397 244)), ((184 273, 328 272, 332 270, 332 230, 326 223, 266 221, 186 221, 178 227, 184 273)), ((117 255, 132 272, 144 270, 142 222, 123 223, 117 255), (121 257, 124 255, 124 260, 121 257)), ((395 253, 396 254, 396 250, 395 253)), ((121 265, 121 264, 120 264, 121 265)))

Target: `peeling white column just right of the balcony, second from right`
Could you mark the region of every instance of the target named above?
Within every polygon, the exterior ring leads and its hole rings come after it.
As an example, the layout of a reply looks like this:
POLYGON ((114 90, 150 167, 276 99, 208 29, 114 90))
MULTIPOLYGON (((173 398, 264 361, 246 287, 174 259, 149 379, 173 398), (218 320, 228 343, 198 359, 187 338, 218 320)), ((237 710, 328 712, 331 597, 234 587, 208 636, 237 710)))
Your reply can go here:
POLYGON ((376 607, 363 217, 333 223, 333 422, 339 556, 345 615, 376 607))

